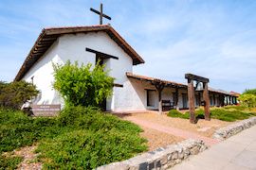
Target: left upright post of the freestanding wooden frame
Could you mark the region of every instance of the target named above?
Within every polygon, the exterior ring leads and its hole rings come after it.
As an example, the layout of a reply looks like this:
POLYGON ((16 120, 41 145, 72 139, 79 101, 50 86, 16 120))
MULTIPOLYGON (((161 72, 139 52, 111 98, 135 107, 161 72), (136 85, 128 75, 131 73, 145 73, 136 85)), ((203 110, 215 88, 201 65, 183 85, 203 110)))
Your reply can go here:
POLYGON ((189 96, 189 104, 190 104, 190 122, 195 124, 195 117, 194 117, 194 88, 192 79, 188 79, 188 96, 189 96))

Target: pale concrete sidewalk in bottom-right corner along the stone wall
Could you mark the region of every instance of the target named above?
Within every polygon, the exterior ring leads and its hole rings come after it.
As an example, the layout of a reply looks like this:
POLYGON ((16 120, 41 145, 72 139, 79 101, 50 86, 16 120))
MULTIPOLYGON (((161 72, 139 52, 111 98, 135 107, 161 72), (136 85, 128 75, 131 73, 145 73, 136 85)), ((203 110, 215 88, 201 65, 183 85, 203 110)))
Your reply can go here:
POLYGON ((256 170, 256 126, 175 165, 174 170, 256 170))

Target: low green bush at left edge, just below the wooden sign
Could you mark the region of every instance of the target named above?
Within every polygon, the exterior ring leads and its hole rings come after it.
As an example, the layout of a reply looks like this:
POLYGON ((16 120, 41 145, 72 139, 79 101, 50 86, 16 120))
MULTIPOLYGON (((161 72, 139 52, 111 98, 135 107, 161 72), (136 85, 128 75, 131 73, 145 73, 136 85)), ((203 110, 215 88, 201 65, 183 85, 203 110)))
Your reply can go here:
POLYGON ((53 137, 63 130, 57 127, 55 118, 34 119, 22 111, 0 109, 0 155, 40 139, 53 137))

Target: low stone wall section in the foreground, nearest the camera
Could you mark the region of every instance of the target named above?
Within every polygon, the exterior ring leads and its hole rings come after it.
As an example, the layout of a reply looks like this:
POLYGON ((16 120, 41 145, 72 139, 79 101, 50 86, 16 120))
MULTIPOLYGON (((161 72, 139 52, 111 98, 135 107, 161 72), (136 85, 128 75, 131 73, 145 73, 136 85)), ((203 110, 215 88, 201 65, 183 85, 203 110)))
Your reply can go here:
POLYGON ((167 169, 174 166, 190 155, 196 155, 207 149, 207 146, 200 140, 185 140, 179 144, 171 144, 160 147, 152 152, 146 152, 126 161, 118 161, 106 164, 97 170, 151 170, 167 169))

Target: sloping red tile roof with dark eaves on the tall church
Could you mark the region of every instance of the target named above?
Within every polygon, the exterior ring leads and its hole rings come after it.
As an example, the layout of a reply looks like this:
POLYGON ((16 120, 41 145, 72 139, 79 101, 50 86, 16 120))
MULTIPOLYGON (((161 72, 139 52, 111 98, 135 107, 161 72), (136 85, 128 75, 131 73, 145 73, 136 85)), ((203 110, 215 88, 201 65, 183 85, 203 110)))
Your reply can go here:
POLYGON ((133 64, 137 65, 144 63, 145 61, 137 54, 137 52, 121 38, 119 33, 109 25, 100 26, 70 26, 70 27, 49 27, 42 30, 37 41, 34 43, 27 58, 25 59, 22 67, 20 68, 17 76, 14 80, 18 81, 26 75, 27 71, 33 66, 33 64, 40 59, 46 50, 55 42, 60 36, 64 34, 74 33, 87 33, 87 32, 99 32, 103 31, 109 35, 109 37, 118 43, 118 45, 126 52, 132 59, 133 64))

